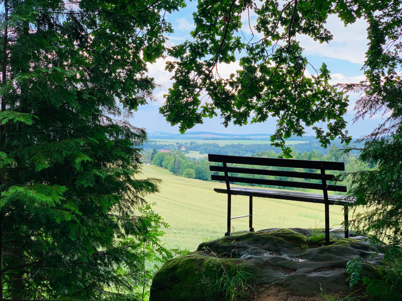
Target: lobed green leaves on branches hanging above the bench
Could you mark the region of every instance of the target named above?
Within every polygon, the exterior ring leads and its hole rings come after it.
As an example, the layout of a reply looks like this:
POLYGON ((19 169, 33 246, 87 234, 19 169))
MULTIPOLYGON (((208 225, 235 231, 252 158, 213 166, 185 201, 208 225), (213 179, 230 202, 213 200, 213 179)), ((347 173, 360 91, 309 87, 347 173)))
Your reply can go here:
MULTIPOLYGON (((222 124, 244 125, 277 119, 272 141, 301 136, 312 127, 323 146, 339 137, 349 142, 344 115, 348 98, 329 84, 325 64, 306 74, 308 60, 297 41, 308 35, 328 43, 329 15, 345 24, 375 14, 392 1, 199 0, 194 12, 192 40, 168 50, 175 58, 173 87, 160 112, 180 131, 220 114, 222 124), (250 15, 256 16, 255 24, 250 15), (228 78, 219 75, 223 64, 239 63, 228 78)), ((398 3, 392 4, 398 6, 398 3)), ((285 153, 288 154, 289 150, 285 153)))

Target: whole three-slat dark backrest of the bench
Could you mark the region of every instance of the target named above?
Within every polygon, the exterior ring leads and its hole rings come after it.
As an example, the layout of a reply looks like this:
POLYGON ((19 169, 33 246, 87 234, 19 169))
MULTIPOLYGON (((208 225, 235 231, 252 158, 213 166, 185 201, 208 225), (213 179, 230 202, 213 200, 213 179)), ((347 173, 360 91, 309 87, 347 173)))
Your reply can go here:
POLYGON ((315 160, 296 160, 296 159, 278 159, 278 158, 258 158, 258 157, 240 157, 226 155, 208 155, 209 162, 223 163, 223 166, 211 165, 209 170, 224 172, 224 175, 212 175, 211 179, 215 181, 225 181, 228 189, 230 182, 274 185, 282 187, 309 188, 329 191, 346 192, 346 186, 343 185, 326 185, 326 181, 334 178, 334 175, 326 174, 325 170, 345 170, 343 162, 315 161, 315 160), (277 171, 269 169, 256 169, 244 167, 228 167, 228 163, 245 164, 245 165, 261 165, 271 167, 293 167, 304 169, 318 169, 320 173, 297 172, 297 171, 277 171), (248 175, 269 175, 279 177, 293 177, 300 179, 317 179, 322 183, 282 181, 271 179, 259 179, 254 177, 232 177, 228 173, 242 173, 248 175), (325 184, 324 184, 325 183, 325 184))

